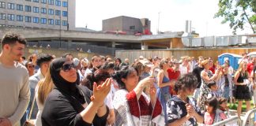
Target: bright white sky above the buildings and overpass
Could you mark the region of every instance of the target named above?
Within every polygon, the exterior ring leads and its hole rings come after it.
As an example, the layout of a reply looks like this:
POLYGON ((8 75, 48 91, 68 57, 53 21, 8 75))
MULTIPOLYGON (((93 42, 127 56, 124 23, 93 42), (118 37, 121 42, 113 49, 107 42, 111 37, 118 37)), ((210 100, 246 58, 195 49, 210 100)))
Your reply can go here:
MULTIPOLYGON (((219 0, 76 0, 76 27, 101 31, 102 20, 127 16, 148 18, 151 31, 185 31, 186 20, 191 20, 192 30, 201 37, 232 35, 228 24, 213 18, 219 0), (159 19, 159 20, 158 20, 159 19), (158 25, 159 24, 159 25, 158 25)), ((238 35, 251 34, 245 27, 238 35)))

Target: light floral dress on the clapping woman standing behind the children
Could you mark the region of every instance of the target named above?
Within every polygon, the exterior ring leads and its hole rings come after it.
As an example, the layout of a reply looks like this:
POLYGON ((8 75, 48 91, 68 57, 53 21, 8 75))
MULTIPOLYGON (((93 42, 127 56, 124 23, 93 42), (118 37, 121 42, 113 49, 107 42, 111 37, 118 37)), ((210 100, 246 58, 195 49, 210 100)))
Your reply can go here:
MULTIPOLYGON (((205 69, 203 71, 205 71, 205 69)), ((213 76, 213 72, 211 72, 210 70, 207 73, 209 78, 213 76)), ((200 97, 199 97, 199 107, 201 111, 205 111, 205 102, 207 100, 207 96, 209 95, 209 92, 210 92, 210 89, 207 86, 207 83, 201 77, 201 87, 200 87, 200 97)))

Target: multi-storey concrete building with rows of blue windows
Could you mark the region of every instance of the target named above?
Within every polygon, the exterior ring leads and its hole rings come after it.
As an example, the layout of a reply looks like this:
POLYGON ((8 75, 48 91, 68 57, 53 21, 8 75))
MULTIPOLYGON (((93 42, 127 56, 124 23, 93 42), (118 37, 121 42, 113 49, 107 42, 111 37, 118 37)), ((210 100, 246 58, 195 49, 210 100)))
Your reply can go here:
POLYGON ((75 29, 76 0, 0 0, 0 27, 75 29))

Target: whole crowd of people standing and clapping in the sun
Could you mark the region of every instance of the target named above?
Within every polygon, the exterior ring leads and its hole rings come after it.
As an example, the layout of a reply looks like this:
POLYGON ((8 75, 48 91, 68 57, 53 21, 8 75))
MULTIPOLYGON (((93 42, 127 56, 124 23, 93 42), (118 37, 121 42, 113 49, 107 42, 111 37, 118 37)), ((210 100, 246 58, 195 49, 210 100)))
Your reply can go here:
POLYGON ((23 57, 26 40, 2 38, 0 126, 211 125, 227 119, 228 102, 256 106, 256 57, 234 71, 212 57, 138 57, 134 61, 95 55, 23 57))

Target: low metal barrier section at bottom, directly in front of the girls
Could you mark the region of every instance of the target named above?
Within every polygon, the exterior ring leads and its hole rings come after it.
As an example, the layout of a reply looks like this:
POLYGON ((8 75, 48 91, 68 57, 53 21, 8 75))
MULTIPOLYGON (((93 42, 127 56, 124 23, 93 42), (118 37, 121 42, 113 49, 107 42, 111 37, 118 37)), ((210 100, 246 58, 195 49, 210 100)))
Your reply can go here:
POLYGON ((228 124, 241 125, 242 120, 238 116, 235 116, 235 117, 228 118, 226 120, 221 120, 220 122, 217 122, 217 123, 213 124, 212 126, 222 126, 222 125, 228 125, 228 124))

